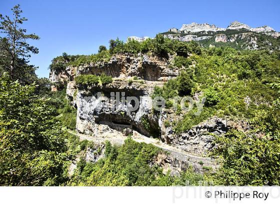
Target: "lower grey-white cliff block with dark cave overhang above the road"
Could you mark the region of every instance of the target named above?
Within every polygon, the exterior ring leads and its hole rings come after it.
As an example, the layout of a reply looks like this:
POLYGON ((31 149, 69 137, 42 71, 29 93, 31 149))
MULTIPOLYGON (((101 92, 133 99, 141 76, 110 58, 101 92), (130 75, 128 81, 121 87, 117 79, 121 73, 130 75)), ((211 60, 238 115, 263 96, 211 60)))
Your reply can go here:
POLYGON ((145 84, 138 81, 130 83, 123 78, 115 79, 106 85, 78 86, 76 96, 77 131, 106 137, 125 135, 127 129, 135 130, 145 136, 151 136, 153 132, 160 135, 158 117, 151 113, 150 109, 147 109, 149 106, 148 96, 151 94, 153 86, 149 82, 145 84), (98 92, 101 93, 99 98, 98 92), (126 102, 118 102, 116 97, 110 100, 111 92, 119 92, 119 96, 125 97, 126 102), (133 104, 134 100, 127 101, 127 97, 136 97, 140 106, 129 112, 129 106, 134 107, 135 104, 133 104), (146 124, 142 123, 143 120, 146 124))

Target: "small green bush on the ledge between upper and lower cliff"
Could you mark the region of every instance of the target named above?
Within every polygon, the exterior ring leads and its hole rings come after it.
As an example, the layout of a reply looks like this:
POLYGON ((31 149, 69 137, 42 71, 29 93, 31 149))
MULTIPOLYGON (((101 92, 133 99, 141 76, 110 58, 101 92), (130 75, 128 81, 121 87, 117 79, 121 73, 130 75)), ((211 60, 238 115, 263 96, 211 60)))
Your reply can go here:
POLYGON ((112 77, 105 75, 104 73, 102 73, 100 76, 96 76, 93 74, 81 74, 75 77, 75 82, 81 85, 97 85, 99 83, 99 80, 102 84, 108 84, 112 82, 112 77))

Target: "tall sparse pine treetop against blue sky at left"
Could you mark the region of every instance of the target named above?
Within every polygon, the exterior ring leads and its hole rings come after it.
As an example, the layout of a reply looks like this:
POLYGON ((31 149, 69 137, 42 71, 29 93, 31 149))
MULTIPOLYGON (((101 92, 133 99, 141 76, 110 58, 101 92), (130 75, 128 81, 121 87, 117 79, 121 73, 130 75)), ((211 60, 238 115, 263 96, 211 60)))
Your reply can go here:
POLYGON ((2 62, 4 70, 8 71, 12 79, 17 79, 21 77, 18 73, 22 73, 22 70, 17 72, 18 69, 27 69, 27 73, 34 71, 33 66, 28 66, 27 62, 30 53, 38 53, 38 48, 29 45, 27 40, 37 40, 39 37, 34 33, 26 34, 26 29, 20 27, 27 18, 21 17, 19 4, 11 10, 12 18, 0 14, 0 57, 5 59, 2 62))

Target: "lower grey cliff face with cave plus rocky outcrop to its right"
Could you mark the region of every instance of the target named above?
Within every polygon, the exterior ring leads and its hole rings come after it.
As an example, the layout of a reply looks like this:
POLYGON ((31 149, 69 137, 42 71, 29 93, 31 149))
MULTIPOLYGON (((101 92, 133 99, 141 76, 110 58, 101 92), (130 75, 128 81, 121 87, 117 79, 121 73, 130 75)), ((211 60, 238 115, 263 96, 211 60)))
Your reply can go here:
POLYGON ((231 127, 227 121, 212 117, 186 132, 175 133, 171 125, 166 126, 164 123, 169 121, 171 124, 178 118, 175 113, 170 109, 151 109, 149 99, 155 85, 161 86, 162 83, 145 81, 142 84, 138 80, 130 83, 124 78, 118 78, 106 85, 77 86, 74 99, 77 107, 76 130, 96 137, 156 137, 180 150, 205 155, 214 146, 213 134, 224 134, 231 127), (102 93, 101 98, 98 98, 98 92, 102 93), (129 96, 136 97, 140 102, 139 108, 128 115, 129 106, 134 106, 133 101, 117 103, 115 97, 110 100, 111 92, 123 92, 126 99, 129 96))

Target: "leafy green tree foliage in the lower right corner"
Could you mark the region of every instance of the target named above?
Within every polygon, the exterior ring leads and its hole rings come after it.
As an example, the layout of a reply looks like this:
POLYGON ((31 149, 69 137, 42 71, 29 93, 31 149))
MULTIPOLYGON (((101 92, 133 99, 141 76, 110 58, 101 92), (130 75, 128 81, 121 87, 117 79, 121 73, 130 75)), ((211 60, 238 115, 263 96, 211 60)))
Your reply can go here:
MULTIPOLYGON (((275 85, 275 84, 273 84, 275 85)), ((275 86, 279 92, 279 87, 275 86)), ((213 154, 222 166, 215 174, 221 185, 280 184, 280 98, 266 110, 258 110, 247 132, 230 130, 216 136, 213 154)))

